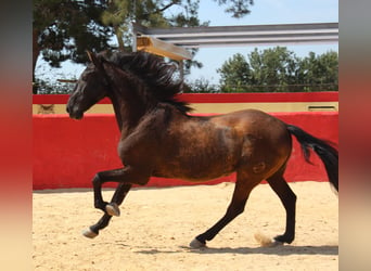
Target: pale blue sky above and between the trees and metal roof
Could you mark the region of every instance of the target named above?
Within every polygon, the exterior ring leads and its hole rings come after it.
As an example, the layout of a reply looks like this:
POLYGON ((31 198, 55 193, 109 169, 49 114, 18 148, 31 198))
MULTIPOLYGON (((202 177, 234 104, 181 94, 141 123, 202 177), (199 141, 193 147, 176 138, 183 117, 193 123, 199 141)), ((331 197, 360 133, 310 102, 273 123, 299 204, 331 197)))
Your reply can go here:
MULTIPOLYGON (((215 1, 201 0, 199 18, 201 22, 208 21, 210 26, 229 25, 265 25, 265 24, 299 24, 299 23, 338 23, 337 0, 255 0, 251 7, 251 14, 243 18, 232 18, 225 13, 226 7, 219 7, 215 1)), ((274 46, 273 46, 274 47, 274 46)), ((258 47, 264 50, 269 47, 258 47)), ((309 52, 322 54, 328 51, 338 51, 338 44, 302 44, 286 46, 297 56, 304 57, 309 52)), ((240 46, 226 48, 201 48, 195 60, 203 63, 203 68, 192 68, 191 74, 186 78, 188 81, 206 79, 210 83, 219 82, 219 75, 216 72, 233 54, 241 53, 247 56, 255 47, 240 46)), ((65 62, 62 68, 53 69, 38 61, 36 75, 43 75, 42 78, 78 78, 85 66, 65 62)))

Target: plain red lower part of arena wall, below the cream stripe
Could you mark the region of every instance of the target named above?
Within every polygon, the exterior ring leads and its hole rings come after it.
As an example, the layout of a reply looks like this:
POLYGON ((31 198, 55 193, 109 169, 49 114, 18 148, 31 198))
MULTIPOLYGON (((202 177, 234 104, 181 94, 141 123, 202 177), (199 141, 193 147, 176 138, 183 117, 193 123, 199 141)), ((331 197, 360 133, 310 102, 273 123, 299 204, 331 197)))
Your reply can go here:
MULTIPOLYGON (((37 101, 34 101, 38 103, 37 101)), ((315 137, 338 142, 337 112, 271 113, 283 121, 296 125, 315 137)), ((113 114, 87 114, 73 120, 66 114, 34 115, 34 190, 91 188, 97 171, 121 167, 116 153, 119 138, 113 114)), ((317 155, 307 164, 294 140, 294 149, 285 177, 287 181, 327 181, 327 173, 317 155)), ((205 184, 223 181, 226 177, 205 184)), ((191 182, 152 178, 148 186, 189 185, 191 182)), ((106 188, 116 186, 107 183, 106 188)))

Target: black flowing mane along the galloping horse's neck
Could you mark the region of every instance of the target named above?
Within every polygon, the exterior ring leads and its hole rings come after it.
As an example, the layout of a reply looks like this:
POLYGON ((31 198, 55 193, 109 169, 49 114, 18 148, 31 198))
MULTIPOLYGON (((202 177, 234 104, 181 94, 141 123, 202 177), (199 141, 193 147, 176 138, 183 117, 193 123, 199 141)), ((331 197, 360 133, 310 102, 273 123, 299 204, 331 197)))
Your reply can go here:
POLYGON ((169 103, 180 112, 187 114, 192 111, 188 103, 179 101, 177 95, 181 91, 181 80, 176 80, 176 66, 164 62, 154 54, 139 52, 104 52, 101 55, 123 70, 142 79, 148 86, 146 91, 159 102, 169 103), (103 55, 102 55, 103 54, 103 55))

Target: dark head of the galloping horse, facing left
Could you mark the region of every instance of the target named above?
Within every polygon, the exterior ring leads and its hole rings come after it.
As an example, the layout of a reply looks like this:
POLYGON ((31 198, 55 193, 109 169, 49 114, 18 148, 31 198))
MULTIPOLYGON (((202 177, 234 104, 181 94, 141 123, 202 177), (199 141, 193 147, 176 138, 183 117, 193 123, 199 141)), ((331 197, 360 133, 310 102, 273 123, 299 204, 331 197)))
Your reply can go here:
POLYGON ((103 68, 104 59, 88 52, 91 63, 80 75, 69 95, 66 111, 71 118, 80 119, 84 113, 107 95, 108 80, 103 68))

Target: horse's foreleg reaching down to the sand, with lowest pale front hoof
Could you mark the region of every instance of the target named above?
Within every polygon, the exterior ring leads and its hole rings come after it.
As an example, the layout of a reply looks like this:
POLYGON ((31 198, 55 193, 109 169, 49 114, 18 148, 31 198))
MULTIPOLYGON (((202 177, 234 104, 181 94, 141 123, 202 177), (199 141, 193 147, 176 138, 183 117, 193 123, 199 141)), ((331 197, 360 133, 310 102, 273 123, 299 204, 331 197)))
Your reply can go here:
MULTIPOLYGON (((119 206, 124 202, 130 189, 131 189, 131 184, 119 183, 115 190, 114 195, 112 196, 110 205, 119 206)), ((115 212, 117 214, 117 210, 115 210, 115 212)), ((118 214, 119 214, 119 210, 118 210, 118 214)), ((108 225, 111 218, 112 218, 112 215, 110 215, 108 211, 105 212, 95 224, 89 227, 89 229, 85 230, 82 234, 89 238, 95 237, 99 234, 100 230, 108 225)))

